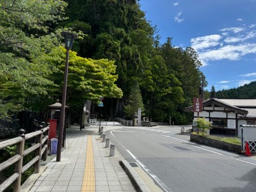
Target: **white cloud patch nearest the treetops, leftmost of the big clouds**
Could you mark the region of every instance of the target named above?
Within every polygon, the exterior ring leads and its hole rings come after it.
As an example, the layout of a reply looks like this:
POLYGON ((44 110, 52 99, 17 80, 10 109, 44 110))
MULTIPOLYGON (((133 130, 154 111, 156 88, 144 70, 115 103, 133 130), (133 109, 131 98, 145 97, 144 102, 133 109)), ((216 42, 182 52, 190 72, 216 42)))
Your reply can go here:
POLYGON ((209 47, 214 47, 220 44, 219 40, 222 37, 220 35, 206 35, 202 37, 190 39, 191 47, 195 50, 201 50, 209 47))

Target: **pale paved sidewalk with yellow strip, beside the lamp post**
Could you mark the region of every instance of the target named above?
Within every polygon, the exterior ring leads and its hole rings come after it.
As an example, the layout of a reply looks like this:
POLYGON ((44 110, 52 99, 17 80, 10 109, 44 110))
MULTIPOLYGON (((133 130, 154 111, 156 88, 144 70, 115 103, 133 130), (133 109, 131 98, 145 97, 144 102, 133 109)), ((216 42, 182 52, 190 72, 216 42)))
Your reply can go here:
POLYGON ((109 157, 95 131, 67 129, 67 149, 60 162, 48 163, 37 179, 33 191, 136 191, 119 165, 122 157, 109 157))

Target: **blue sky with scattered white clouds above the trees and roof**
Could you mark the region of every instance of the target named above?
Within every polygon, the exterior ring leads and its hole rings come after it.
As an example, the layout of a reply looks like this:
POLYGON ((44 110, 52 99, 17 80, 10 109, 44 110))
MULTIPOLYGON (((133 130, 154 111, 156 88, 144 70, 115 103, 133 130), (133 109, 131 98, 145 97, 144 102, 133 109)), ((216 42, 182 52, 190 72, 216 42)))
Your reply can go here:
POLYGON ((208 88, 243 86, 256 80, 256 0, 141 0, 161 43, 193 47, 208 88))

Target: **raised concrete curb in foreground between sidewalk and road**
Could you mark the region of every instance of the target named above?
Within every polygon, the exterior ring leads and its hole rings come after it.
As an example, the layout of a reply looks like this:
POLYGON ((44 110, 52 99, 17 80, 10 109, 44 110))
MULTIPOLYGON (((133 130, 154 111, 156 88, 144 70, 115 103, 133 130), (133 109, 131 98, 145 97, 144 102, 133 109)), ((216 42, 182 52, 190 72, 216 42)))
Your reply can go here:
POLYGON ((139 175, 134 170, 134 168, 126 160, 119 161, 119 164, 121 165, 121 167, 123 167, 123 169, 125 170, 128 177, 131 179, 133 185, 135 186, 135 188, 138 192, 150 192, 151 191, 146 186, 146 184, 142 181, 142 179, 139 177, 139 175))

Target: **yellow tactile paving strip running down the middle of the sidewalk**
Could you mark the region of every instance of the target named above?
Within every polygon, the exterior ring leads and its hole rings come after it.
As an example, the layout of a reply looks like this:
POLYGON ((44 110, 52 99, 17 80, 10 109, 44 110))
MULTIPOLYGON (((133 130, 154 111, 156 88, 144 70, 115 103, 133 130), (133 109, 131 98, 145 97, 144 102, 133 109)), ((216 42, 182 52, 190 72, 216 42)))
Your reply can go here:
POLYGON ((83 181, 81 192, 95 192, 95 169, 93 156, 93 142, 92 135, 88 135, 87 152, 86 152, 86 166, 84 167, 83 181))

